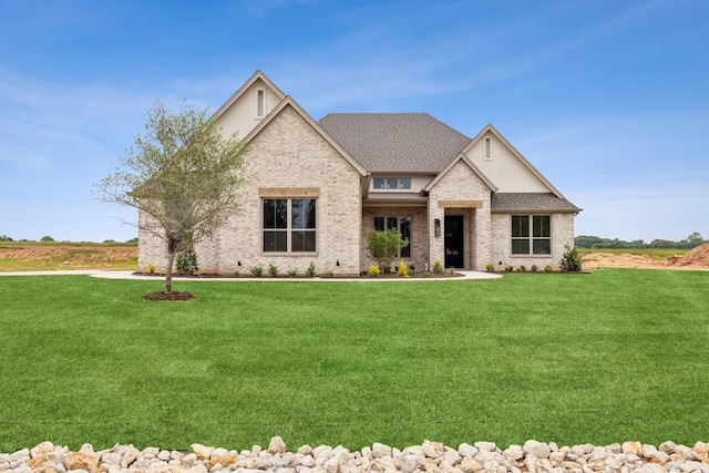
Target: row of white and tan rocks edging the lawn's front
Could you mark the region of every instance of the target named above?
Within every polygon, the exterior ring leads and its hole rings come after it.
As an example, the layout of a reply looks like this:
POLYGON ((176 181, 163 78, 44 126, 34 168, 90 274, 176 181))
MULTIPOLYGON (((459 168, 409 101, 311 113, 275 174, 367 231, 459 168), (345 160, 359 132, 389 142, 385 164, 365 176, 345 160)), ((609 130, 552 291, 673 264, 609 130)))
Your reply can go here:
POLYGON ((0 473, 709 473, 709 444, 664 442, 558 446, 530 440, 504 451, 491 442, 458 449, 424 441, 403 450, 374 443, 350 452, 339 445, 300 446, 289 452, 281 438, 266 450, 192 445, 191 452, 115 445, 78 452, 51 442, 0 453, 0 473))

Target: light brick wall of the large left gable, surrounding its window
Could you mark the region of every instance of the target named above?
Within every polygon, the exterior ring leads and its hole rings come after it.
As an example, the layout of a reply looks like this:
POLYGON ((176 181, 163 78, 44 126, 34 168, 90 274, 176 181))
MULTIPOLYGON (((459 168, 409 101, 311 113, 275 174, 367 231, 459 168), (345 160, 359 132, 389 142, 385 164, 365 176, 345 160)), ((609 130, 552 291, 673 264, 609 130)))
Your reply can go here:
MULTIPOLYGON (((249 268, 261 266, 266 274, 271 264, 281 274, 291 269, 304 274, 314 263, 319 274, 359 274, 359 173, 290 106, 253 138, 245 157, 240 206, 215 239, 196 246, 201 271, 248 274, 249 268), (299 197, 304 188, 317 189, 316 253, 263 251, 259 189, 265 187, 278 188, 282 198, 299 197)), ((142 233, 138 266, 144 268, 153 263, 162 270, 165 250, 164 243, 142 233)))

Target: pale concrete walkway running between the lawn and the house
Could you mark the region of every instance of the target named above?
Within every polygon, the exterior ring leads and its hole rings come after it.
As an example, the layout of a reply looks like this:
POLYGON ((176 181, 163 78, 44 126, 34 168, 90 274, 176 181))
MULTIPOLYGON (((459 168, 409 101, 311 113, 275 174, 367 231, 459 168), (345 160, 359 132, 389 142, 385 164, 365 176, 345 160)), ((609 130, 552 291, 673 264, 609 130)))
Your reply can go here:
MULTIPOLYGON (((358 282, 368 282, 368 281, 450 281, 450 280, 463 280, 463 279, 495 279, 501 278, 502 275, 491 274, 491 273, 481 273, 481 271, 458 271, 462 276, 456 277, 443 277, 443 278, 326 278, 326 277, 315 277, 315 278, 271 278, 268 276, 264 276, 260 278, 255 277, 242 277, 242 278, 198 278, 198 277, 181 277, 174 276, 173 280, 186 280, 186 281, 358 281, 358 282)), ((137 279, 137 280, 161 280, 164 279, 161 276, 142 276, 134 275, 133 271, 130 270, 121 270, 121 271, 112 271, 112 270, 101 270, 101 269, 75 269, 75 270, 55 270, 55 271, 14 271, 14 273, 0 273, 0 276, 92 276, 94 278, 101 279, 137 279)))

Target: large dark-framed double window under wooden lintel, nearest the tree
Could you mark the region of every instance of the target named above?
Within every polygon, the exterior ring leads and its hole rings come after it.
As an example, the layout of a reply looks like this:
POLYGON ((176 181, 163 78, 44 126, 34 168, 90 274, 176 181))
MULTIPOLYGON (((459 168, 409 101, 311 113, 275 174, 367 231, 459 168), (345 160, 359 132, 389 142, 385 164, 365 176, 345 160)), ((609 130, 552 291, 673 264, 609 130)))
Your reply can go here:
POLYGON ((264 199, 264 251, 315 253, 315 198, 264 199))

